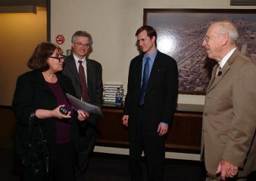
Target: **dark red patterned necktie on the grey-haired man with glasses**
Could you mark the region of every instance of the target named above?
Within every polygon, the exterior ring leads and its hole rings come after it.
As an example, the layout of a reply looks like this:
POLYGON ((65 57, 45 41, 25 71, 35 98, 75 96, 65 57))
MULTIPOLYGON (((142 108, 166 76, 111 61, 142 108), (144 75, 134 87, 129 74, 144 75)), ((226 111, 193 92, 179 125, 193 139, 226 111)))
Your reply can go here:
POLYGON ((78 61, 78 62, 79 62, 78 74, 79 74, 81 88, 82 88, 82 100, 84 102, 89 102, 90 98, 89 98, 89 94, 88 94, 88 88, 87 88, 84 68, 83 68, 83 65, 82 65, 83 61, 78 61))

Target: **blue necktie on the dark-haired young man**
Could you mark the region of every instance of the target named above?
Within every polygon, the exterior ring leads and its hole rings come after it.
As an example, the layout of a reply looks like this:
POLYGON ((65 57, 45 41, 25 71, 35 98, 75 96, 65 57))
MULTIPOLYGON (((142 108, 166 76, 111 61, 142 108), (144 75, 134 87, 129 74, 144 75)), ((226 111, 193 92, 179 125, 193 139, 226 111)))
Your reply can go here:
POLYGON ((148 85, 148 78, 149 78, 149 64, 148 61, 150 60, 150 57, 146 58, 146 62, 144 65, 144 70, 143 70, 143 79, 142 79, 142 86, 140 89, 140 100, 139 100, 139 105, 144 104, 144 99, 145 99, 145 94, 146 94, 146 89, 148 85))

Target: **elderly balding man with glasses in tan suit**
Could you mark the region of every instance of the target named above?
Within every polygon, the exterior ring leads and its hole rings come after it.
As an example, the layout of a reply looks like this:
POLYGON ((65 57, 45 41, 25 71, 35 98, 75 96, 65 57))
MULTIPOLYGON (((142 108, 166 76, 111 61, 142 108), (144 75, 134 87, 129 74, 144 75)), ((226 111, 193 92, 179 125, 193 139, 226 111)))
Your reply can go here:
POLYGON ((205 95, 206 180, 246 180, 256 170, 256 65, 239 52, 237 36, 231 22, 214 22, 202 44, 218 61, 205 95))

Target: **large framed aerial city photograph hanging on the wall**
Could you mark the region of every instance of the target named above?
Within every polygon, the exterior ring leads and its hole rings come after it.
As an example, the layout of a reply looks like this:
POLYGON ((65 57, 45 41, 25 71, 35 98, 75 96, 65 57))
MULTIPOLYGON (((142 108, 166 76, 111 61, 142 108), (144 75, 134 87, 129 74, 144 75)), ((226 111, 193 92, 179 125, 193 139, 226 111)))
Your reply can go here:
POLYGON ((256 62, 256 10, 144 9, 143 24, 156 29, 157 49, 177 61, 179 94, 205 94, 217 62, 207 58, 202 43, 217 20, 236 25, 239 50, 256 62))

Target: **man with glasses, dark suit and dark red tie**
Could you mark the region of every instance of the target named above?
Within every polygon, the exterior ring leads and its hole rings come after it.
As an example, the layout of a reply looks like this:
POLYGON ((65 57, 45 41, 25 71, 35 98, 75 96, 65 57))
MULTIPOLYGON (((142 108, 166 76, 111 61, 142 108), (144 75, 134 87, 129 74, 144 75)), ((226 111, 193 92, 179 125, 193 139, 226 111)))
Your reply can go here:
MULTIPOLYGON (((88 59, 92 48, 92 36, 86 31, 77 31, 72 36, 72 55, 65 59, 63 73, 70 78, 78 98, 102 106, 102 66, 99 62, 88 59), (87 57, 86 57, 87 56, 87 57)), ((93 113, 86 114, 86 122, 79 129, 79 157, 77 178, 83 178, 88 165, 90 152, 93 150, 97 135, 97 120, 93 113)))

